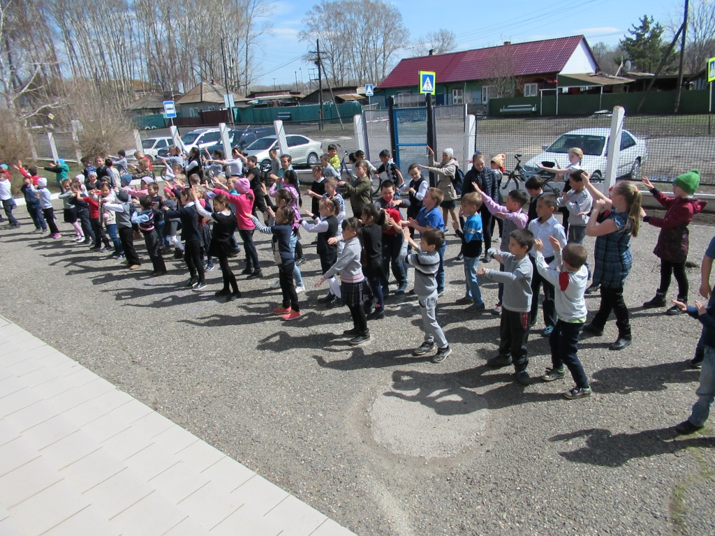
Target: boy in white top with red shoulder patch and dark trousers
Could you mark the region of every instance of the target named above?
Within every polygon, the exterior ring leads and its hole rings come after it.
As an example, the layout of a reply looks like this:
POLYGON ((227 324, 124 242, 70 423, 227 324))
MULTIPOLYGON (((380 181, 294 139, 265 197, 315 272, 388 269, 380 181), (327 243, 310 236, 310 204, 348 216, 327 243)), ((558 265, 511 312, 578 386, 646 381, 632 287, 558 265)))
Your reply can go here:
POLYGON ((591 386, 588 384, 586 372, 578 359, 578 334, 586 322, 586 299, 583 292, 588 284, 586 269, 586 248, 581 244, 567 244, 561 249, 561 241, 556 237, 548 237, 553 249, 554 260, 550 267, 543 257, 543 247, 546 242, 541 239, 534 241, 536 251, 536 269, 544 280, 556 288, 556 314, 558 319, 548 338, 551 347, 551 369, 546 369, 541 379, 553 382, 566 377, 563 365, 571 372, 576 387, 569 389, 563 396, 576 399, 591 396, 591 386))

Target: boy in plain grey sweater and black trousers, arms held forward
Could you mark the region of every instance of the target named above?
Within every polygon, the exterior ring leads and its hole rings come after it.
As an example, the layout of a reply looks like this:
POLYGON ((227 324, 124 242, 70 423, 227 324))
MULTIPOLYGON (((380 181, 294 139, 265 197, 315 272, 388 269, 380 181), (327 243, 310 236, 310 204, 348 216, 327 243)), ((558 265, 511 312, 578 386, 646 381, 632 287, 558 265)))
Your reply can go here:
POLYGON ((513 364, 516 380, 522 385, 529 383, 529 373, 526 372, 529 364, 526 342, 529 337, 533 267, 528 259, 528 252, 531 251, 533 243, 534 235, 531 231, 514 229, 507 242, 508 252, 500 254, 496 249, 488 251, 488 254, 497 259, 503 268, 491 270, 480 267, 477 270, 478 276, 485 275, 504 284, 499 354, 488 359, 487 364, 494 368, 513 364))

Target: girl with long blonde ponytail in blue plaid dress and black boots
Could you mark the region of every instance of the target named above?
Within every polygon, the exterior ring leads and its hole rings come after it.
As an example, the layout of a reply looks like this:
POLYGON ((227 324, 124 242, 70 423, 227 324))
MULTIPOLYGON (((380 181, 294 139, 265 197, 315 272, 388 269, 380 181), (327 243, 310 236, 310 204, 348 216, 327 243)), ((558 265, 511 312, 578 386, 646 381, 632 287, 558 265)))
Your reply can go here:
POLYGON ((593 284, 601 287, 601 305, 591 324, 584 326, 583 331, 600 337, 613 311, 616 314, 618 339, 608 349, 622 350, 631 344, 631 323, 628 307, 623 301, 623 284, 633 264, 631 237, 638 236, 643 215, 641 192, 638 192, 636 184, 622 181, 611 189, 609 198, 591 184, 588 174, 583 174, 583 183, 593 196, 593 209, 586 224, 586 235, 596 237, 593 284))

